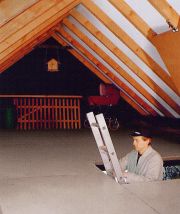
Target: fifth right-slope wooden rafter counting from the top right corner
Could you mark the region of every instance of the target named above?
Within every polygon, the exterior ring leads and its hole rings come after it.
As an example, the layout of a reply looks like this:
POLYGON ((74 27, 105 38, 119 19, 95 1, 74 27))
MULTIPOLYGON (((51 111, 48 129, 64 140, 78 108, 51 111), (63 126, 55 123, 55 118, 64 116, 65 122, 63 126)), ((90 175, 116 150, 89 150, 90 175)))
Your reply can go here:
POLYGON ((86 35, 77 29, 67 18, 63 19, 63 23, 73 33, 75 33, 83 42, 86 43, 93 51, 95 51, 101 58, 107 62, 117 73, 125 78, 136 90, 139 91, 149 102, 151 102, 159 111, 168 117, 173 115, 164 108, 150 93, 148 93, 140 84, 132 78, 126 71, 124 71, 113 59, 111 59, 103 50, 101 50, 95 43, 93 43, 86 35))

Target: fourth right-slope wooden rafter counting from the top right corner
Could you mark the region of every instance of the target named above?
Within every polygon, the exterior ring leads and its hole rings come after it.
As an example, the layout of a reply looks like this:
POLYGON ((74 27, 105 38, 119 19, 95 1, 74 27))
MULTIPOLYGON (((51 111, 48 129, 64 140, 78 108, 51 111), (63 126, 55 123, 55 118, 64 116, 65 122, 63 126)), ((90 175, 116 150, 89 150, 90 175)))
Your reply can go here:
POLYGON ((144 81, 152 90, 167 102, 175 111, 180 113, 179 106, 169 97, 143 70, 132 62, 121 50, 119 50, 104 34, 102 34, 94 25, 92 25, 77 10, 70 12, 81 25, 83 25, 92 35, 101 41, 114 55, 116 55, 124 64, 127 65, 142 81, 144 81))

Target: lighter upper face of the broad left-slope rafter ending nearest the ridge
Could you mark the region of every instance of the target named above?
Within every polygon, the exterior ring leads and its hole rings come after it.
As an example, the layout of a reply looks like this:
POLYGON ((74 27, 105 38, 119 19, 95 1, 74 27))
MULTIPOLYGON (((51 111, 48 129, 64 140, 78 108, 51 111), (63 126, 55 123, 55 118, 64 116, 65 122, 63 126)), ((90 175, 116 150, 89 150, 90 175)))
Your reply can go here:
POLYGON ((71 10, 74 6, 76 6, 77 3, 79 3, 78 0, 63 0, 60 1, 58 4, 55 4, 54 7, 41 14, 38 18, 33 19, 32 22, 28 23, 19 31, 17 31, 16 33, 8 37, 6 40, 1 42, 0 43, 1 53, 3 53, 3 51, 5 51, 7 48, 16 43, 17 40, 19 40, 19 38, 23 37, 24 35, 27 35, 33 29, 38 28, 39 25, 41 25, 42 23, 46 23, 45 21, 49 21, 50 19, 52 19, 52 17, 56 17, 56 14, 61 13, 61 15, 63 15, 62 11, 66 13, 67 11, 71 10))

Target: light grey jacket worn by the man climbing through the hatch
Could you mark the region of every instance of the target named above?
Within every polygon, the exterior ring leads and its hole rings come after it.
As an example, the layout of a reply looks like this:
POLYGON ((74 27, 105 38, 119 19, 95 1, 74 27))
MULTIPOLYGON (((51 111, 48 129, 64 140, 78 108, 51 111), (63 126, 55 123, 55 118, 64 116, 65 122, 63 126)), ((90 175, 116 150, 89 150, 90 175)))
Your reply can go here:
POLYGON ((137 163, 138 153, 133 150, 120 160, 123 171, 127 170, 126 182, 158 181, 163 179, 163 160, 151 146, 137 163))

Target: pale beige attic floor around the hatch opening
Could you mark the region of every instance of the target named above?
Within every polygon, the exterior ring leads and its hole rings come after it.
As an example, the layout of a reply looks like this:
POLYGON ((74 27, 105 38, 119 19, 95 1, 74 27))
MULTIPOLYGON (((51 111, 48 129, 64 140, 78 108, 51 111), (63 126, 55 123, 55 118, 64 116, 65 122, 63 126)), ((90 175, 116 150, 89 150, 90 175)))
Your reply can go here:
MULTIPOLYGON (((177 214, 180 180, 117 184, 95 167, 90 129, 0 132, 0 213, 177 214)), ((127 130, 111 132, 118 157, 132 149, 127 130)), ((178 139, 155 137, 162 156, 180 156, 178 139)))

